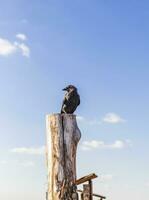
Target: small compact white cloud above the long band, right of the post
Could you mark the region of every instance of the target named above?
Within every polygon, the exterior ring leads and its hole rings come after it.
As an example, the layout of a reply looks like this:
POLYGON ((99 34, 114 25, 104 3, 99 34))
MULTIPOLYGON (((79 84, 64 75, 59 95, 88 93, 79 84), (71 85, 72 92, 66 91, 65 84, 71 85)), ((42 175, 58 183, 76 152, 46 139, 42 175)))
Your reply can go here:
POLYGON ((103 118, 103 121, 106 123, 111 123, 111 124, 125 122, 125 120, 121 118, 119 115, 117 115, 116 113, 107 113, 105 117, 103 118))

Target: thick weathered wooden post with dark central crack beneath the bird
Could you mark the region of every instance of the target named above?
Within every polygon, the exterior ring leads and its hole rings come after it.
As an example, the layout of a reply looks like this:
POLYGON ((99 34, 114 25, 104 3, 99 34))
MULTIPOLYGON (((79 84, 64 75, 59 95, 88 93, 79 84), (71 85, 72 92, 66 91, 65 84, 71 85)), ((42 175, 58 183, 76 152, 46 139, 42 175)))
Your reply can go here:
POLYGON ((52 114, 46 117, 47 200, 77 200, 76 151, 81 138, 76 116, 52 114))

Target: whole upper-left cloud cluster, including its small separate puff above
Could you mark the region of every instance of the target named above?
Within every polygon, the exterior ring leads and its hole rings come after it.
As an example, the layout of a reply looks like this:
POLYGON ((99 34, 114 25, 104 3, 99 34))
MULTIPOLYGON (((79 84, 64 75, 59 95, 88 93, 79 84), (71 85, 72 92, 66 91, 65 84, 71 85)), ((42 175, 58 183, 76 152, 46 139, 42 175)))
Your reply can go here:
MULTIPOLYGON (((26 39, 25 35, 19 35, 20 39, 26 39)), ((22 42, 11 42, 8 39, 0 38, 0 56, 9 56, 14 53, 21 52, 21 54, 25 57, 30 56, 30 48, 25 43, 22 42)))

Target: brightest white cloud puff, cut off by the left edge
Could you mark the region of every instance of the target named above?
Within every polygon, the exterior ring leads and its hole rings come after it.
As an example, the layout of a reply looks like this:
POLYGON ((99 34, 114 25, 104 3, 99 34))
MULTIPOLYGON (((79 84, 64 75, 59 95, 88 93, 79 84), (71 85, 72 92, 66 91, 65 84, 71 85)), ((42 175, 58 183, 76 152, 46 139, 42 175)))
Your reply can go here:
POLYGON ((13 54, 17 51, 17 47, 15 44, 11 43, 7 39, 0 38, 0 55, 1 56, 8 56, 13 54))

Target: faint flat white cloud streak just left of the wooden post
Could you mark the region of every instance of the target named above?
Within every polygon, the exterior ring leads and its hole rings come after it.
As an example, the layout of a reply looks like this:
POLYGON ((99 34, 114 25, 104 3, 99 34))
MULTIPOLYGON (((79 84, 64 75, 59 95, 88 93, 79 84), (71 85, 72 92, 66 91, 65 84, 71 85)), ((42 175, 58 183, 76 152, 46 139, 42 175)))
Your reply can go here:
POLYGON ((45 152, 45 147, 18 147, 18 148, 13 148, 10 150, 12 153, 17 153, 17 154, 30 154, 30 155, 43 155, 45 152))

